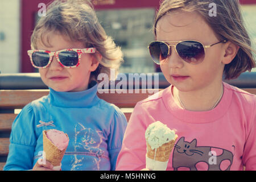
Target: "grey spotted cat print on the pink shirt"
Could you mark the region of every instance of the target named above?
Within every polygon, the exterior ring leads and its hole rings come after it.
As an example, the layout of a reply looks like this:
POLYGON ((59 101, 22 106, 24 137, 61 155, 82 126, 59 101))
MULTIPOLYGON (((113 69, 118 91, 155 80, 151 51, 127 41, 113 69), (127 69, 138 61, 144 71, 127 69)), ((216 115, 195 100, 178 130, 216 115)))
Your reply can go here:
POLYGON ((197 146, 197 140, 185 141, 181 137, 175 144, 172 156, 172 167, 175 171, 178 168, 189 168, 191 171, 230 171, 233 162, 232 152, 223 148, 197 146))

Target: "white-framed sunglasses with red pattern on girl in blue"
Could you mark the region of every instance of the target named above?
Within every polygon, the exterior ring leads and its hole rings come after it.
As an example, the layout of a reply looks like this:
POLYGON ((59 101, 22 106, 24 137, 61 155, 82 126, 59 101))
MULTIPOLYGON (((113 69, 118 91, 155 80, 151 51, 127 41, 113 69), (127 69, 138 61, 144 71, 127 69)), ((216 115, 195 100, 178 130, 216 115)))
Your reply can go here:
POLYGON ((53 56, 56 57, 58 63, 64 68, 78 67, 81 61, 82 53, 95 53, 96 48, 84 49, 63 49, 60 51, 44 51, 44 50, 28 50, 28 56, 35 68, 48 68, 52 62, 53 56))

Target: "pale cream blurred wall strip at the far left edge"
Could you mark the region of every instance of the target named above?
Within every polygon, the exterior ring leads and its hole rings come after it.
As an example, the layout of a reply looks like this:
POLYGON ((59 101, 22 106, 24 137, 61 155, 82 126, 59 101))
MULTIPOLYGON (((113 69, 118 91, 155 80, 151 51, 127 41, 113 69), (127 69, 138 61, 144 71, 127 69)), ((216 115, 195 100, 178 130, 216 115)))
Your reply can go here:
POLYGON ((20 1, 0 1, 0 72, 20 70, 20 1))

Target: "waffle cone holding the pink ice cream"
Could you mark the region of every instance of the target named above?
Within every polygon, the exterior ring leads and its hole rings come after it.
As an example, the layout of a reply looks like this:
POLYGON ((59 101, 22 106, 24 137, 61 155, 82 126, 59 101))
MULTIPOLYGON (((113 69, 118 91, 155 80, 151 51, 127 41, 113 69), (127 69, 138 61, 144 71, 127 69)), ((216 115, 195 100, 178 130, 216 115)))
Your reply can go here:
MULTIPOLYGON (((47 131, 43 131, 43 150, 46 154, 46 160, 48 160, 53 166, 60 166, 61 160, 67 148, 59 150, 52 142, 46 137, 47 131)), ((68 137, 68 135, 66 134, 68 137)))

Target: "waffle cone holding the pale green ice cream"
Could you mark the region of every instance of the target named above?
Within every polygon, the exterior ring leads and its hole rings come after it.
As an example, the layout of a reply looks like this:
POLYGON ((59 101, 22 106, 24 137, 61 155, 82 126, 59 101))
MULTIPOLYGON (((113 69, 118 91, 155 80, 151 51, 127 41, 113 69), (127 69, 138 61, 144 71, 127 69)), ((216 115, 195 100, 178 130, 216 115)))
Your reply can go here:
POLYGON ((147 157, 153 160, 158 160, 160 162, 166 162, 170 157, 172 148, 174 148, 176 139, 177 135, 175 135, 174 140, 171 140, 168 143, 164 143, 162 146, 155 148, 154 150, 152 150, 150 144, 147 143, 147 157))

